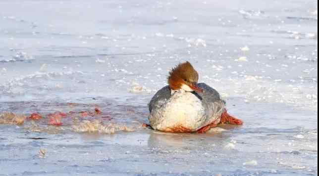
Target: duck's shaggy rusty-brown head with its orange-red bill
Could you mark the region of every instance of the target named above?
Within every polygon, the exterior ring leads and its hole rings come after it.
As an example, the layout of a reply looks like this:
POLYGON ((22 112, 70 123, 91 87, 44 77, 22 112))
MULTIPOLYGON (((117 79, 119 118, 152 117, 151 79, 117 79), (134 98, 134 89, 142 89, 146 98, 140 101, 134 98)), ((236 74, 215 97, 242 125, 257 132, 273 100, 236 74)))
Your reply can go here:
POLYGON ((185 62, 177 65, 169 72, 168 84, 172 90, 183 89, 188 92, 203 92, 203 89, 197 86, 198 78, 198 72, 192 64, 185 62))

